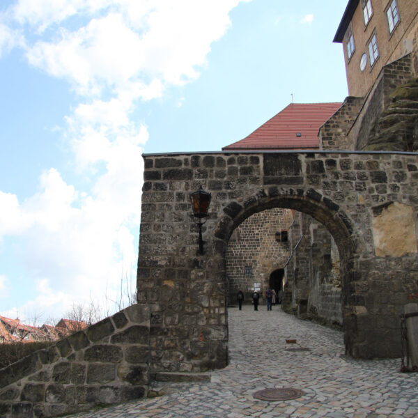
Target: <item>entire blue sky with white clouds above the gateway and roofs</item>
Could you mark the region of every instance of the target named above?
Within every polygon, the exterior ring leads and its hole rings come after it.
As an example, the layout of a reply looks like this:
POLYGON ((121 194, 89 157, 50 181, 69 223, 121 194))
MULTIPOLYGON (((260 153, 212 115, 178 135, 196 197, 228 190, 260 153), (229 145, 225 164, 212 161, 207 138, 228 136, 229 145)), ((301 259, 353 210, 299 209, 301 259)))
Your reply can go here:
POLYGON ((143 153, 342 102, 346 0, 1 0, 0 315, 127 303, 143 153), (115 303, 116 302, 116 303, 115 303))

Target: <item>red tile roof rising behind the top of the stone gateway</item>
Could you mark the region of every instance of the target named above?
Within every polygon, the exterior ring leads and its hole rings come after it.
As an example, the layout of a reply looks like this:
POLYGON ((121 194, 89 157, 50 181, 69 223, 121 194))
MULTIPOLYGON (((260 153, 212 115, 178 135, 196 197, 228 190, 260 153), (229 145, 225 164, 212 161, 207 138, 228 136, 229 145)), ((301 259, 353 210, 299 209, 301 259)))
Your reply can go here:
POLYGON ((224 146, 222 150, 319 148, 319 128, 341 104, 291 103, 248 137, 224 146))

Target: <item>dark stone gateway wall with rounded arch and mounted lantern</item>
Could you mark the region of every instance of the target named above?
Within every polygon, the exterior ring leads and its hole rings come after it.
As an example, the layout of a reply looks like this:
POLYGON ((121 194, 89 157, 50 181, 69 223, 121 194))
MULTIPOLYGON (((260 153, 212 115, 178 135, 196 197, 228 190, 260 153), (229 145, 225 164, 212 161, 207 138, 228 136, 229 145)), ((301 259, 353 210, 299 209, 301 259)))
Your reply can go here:
POLYGON ((226 247, 241 222, 270 208, 311 215, 334 238, 347 353, 399 355, 398 316, 418 290, 417 153, 185 153, 144 162, 137 287, 153 312, 151 369, 226 365, 226 247), (200 186, 212 194, 204 254, 189 203, 200 186))

